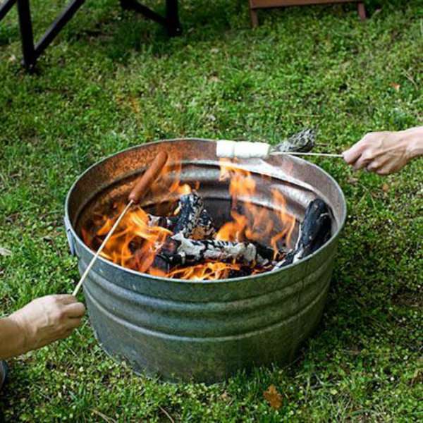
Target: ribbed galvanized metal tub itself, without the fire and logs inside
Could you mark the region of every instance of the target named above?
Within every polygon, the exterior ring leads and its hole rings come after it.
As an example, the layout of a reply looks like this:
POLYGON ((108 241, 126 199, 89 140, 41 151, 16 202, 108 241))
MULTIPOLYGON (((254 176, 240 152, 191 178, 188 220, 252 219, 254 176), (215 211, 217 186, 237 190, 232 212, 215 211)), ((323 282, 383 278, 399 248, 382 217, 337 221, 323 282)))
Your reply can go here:
MULTIPOLYGON (((228 192, 216 183, 214 142, 167 140, 115 154, 87 169, 66 199, 66 231, 81 274, 93 257, 80 238, 84 216, 94 203, 124 198, 161 149, 170 157, 183 154, 182 179, 200 180, 207 207, 224 214, 228 192)), ((135 372, 167 380, 222 381, 238 370, 292 361, 319 323, 345 221, 341 188, 321 168, 296 157, 240 161, 239 166, 267 176, 252 199, 255 204, 269 207, 269 190, 276 187, 286 196, 288 211, 301 220, 308 202, 323 198, 333 213, 331 240, 280 271, 220 281, 159 278, 99 258, 84 285, 90 321, 102 348, 135 372)))

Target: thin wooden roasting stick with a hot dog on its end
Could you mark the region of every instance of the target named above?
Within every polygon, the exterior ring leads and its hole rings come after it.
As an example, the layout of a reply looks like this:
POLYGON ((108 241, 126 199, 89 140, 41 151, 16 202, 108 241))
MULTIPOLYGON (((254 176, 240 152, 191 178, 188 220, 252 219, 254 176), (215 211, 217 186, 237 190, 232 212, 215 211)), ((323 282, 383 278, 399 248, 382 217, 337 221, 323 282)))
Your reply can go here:
POLYGON ((112 226, 106 238, 104 238, 102 245, 100 245, 94 257, 92 257, 90 264, 88 264, 87 269, 85 269, 84 273, 82 274, 80 281, 78 282, 78 285, 73 290, 72 295, 74 296, 78 295, 79 290, 82 286, 82 283, 85 281, 85 278, 87 277, 87 274, 90 273, 92 266, 94 266, 94 263, 99 258, 99 255, 102 253, 102 250, 104 246, 106 245, 107 241, 110 239, 111 235, 113 235, 119 223, 121 223, 123 216, 125 216, 126 212, 128 212, 128 210, 133 204, 137 204, 138 202, 140 202, 141 198, 147 193, 147 191, 151 187, 154 180, 157 179, 161 170, 164 168, 164 165, 166 164, 167 159, 168 159, 168 155, 166 152, 159 152, 159 154, 157 154, 156 158, 152 162, 152 165, 141 176, 140 180, 137 182, 133 190, 130 192, 130 195, 128 196, 128 200, 129 200, 128 204, 126 204, 125 209, 123 209, 123 212, 114 223, 114 226, 112 226))

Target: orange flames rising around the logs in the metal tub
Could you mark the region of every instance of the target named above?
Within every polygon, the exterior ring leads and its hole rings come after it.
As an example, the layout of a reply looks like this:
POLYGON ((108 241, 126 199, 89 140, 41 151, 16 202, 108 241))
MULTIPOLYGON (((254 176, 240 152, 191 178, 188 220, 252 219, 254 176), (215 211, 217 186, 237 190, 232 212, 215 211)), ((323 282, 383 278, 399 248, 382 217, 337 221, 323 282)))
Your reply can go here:
MULTIPOLYGON (((190 185, 180 183, 180 171, 180 160, 177 160, 176 164, 168 164, 157 183, 153 185, 152 190, 156 195, 160 195, 165 200, 164 202, 192 192, 190 185)), ((216 240, 216 243, 217 241, 231 241, 255 245, 255 243, 263 243, 264 240, 268 240, 267 243, 273 250, 273 259, 280 258, 281 247, 290 244, 290 237, 295 228, 295 218, 286 211, 286 201, 281 192, 271 191, 274 206, 272 212, 252 204, 251 199, 257 190, 255 178, 250 172, 238 168, 236 163, 226 159, 221 160, 220 180, 230 180, 229 193, 232 198, 231 217, 233 220, 224 223, 217 233, 214 230, 202 233, 210 235, 212 239, 216 240)), ((200 183, 193 185, 195 185, 194 189, 200 187, 200 183)), ((195 192, 192 192, 192 195, 196 195, 195 192)), ((202 200, 199 201, 204 207, 202 200)), ((94 213, 89 225, 82 228, 82 238, 92 250, 97 250, 123 207, 123 203, 114 204, 112 211, 107 214, 104 212, 94 213)), ((239 272, 245 271, 245 263, 241 265, 235 262, 235 259, 228 260, 228 262, 204 259, 204 262, 192 266, 181 265, 173 269, 163 269, 158 266, 158 254, 162 254, 163 250, 166 250, 170 241, 173 242, 171 237, 175 234, 172 231, 172 224, 177 219, 179 212, 178 209, 174 210, 166 219, 151 216, 139 206, 133 207, 124 216, 116 232, 104 247, 102 256, 128 269, 168 278, 212 281, 237 276, 239 272)), ((202 212, 206 214, 206 216, 201 214, 202 219, 205 219, 207 224, 211 224, 211 221, 207 220, 210 219, 207 211, 202 209, 202 212)), ((205 255, 205 257, 211 256, 205 255)), ((258 252, 257 257, 259 257, 258 252)), ((266 270, 269 270, 269 265, 252 262, 247 274, 257 274, 266 270)))

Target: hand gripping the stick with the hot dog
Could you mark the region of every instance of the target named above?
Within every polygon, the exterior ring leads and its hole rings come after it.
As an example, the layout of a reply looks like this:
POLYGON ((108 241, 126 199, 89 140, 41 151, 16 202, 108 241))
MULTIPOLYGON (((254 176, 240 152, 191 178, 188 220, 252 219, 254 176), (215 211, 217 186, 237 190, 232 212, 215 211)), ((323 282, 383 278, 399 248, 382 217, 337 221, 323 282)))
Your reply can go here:
POLYGON ((22 331, 20 353, 26 353, 69 336, 80 325, 84 313, 85 306, 73 295, 47 295, 31 301, 8 319, 22 331))

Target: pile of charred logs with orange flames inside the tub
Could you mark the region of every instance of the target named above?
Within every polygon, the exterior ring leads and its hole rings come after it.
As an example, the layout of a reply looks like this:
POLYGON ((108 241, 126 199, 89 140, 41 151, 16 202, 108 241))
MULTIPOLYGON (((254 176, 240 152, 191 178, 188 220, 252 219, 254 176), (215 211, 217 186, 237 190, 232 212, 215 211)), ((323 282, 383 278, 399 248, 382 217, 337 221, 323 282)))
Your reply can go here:
MULTIPOLYGON (((271 212, 248 201, 256 189, 250 173, 239 171, 228 162, 222 165, 222 170, 222 177, 231 180, 233 209, 232 220, 219 231, 202 197, 195 191, 187 193, 189 187, 187 191, 184 185, 176 212, 171 216, 147 214, 141 207, 130 209, 102 256, 121 266, 157 276, 215 280, 281 269, 312 254, 329 240, 329 208, 324 201, 313 200, 300 224, 295 247, 286 252, 295 217, 288 213, 281 192, 271 191, 275 205, 271 212), (243 198, 242 207, 238 207, 240 198, 243 198), (276 227, 280 229, 275 231, 276 227)), ((119 211, 120 207, 116 206, 111 217, 95 214, 92 228, 82 229, 85 243, 95 250, 114 225, 119 211)))

